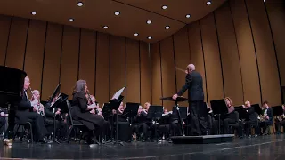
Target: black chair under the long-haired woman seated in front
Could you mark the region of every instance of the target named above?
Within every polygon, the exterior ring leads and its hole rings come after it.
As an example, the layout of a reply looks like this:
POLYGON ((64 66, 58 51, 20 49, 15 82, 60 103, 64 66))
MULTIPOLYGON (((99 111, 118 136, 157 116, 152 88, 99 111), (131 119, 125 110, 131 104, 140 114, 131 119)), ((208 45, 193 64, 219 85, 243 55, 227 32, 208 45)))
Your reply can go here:
MULTIPOLYGON (((74 131, 75 134, 76 134, 76 130, 75 129, 76 128, 83 128, 83 127, 85 127, 85 125, 82 124, 81 122, 77 121, 77 120, 74 120, 72 118, 72 115, 71 115, 71 105, 70 105, 69 100, 66 100, 66 103, 67 103, 67 107, 68 107, 68 110, 69 110, 69 124, 70 124, 70 126, 69 126, 69 129, 68 129, 69 131, 68 131, 68 136, 67 136, 67 142, 69 142, 70 133, 72 131, 74 131)), ((95 132, 94 131, 93 131, 93 138, 95 140, 95 132)))

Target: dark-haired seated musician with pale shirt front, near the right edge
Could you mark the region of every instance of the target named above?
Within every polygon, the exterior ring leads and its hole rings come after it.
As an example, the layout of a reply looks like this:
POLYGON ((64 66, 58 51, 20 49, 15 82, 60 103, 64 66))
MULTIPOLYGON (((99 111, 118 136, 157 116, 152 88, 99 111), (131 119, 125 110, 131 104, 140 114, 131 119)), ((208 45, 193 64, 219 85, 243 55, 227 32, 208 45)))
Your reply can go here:
POLYGON ((268 101, 265 100, 262 103, 263 113, 260 116, 260 123, 259 123, 259 133, 260 134, 269 134, 269 125, 273 124, 273 108, 268 106, 268 101))

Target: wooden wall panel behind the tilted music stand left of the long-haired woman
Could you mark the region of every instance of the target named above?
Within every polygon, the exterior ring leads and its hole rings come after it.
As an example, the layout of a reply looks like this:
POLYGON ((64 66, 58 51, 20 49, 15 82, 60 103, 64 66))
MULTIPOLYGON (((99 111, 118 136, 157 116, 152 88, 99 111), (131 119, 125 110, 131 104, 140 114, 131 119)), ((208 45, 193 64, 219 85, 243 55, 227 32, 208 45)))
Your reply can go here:
MULTIPOLYGON (((42 100, 46 100, 51 96, 60 82, 62 28, 61 25, 53 23, 47 25, 42 100)), ((70 96, 69 99, 71 99, 70 96)))

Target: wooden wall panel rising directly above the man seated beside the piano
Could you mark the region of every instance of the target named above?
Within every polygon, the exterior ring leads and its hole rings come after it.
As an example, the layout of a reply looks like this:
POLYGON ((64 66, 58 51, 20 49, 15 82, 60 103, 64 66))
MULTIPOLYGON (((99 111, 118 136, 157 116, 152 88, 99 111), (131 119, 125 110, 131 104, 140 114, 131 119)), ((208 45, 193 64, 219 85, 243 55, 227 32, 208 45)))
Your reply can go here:
POLYGON ((24 70, 27 72, 31 88, 42 90, 42 72, 45 53, 45 31, 47 22, 30 20, 24 70))

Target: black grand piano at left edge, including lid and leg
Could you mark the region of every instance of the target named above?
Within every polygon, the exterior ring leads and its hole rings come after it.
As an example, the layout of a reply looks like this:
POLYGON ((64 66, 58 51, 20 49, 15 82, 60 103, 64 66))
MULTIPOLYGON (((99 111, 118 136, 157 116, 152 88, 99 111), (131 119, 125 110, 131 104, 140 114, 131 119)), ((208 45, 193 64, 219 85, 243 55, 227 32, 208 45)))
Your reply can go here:
POLYGON ((0 66, 0 107, 8 108, 8 129, 4 138, 11 139, 13 133, 16 105, 21 100, 21 91, 26 72, 16 69, 0 66))

